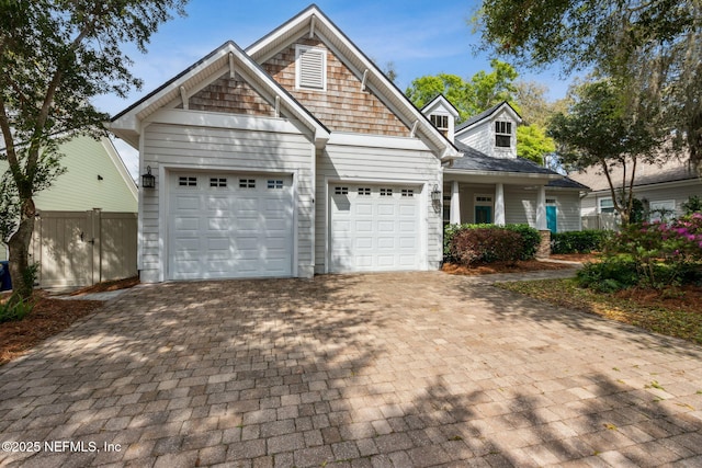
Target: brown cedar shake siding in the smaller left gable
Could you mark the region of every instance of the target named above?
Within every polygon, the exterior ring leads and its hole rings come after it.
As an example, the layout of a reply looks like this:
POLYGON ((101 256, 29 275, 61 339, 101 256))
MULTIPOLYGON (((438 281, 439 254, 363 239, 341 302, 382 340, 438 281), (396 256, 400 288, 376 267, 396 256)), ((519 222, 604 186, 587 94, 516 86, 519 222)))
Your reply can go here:
MULTIPOLYGON (((188 100, 192 111, 224 112, 228 114, 262 115, 273 117, 275 109, 237 75, 236 79, 222 77, 188 100)), ((182 109, 182 104, 178 106, 182 109)))

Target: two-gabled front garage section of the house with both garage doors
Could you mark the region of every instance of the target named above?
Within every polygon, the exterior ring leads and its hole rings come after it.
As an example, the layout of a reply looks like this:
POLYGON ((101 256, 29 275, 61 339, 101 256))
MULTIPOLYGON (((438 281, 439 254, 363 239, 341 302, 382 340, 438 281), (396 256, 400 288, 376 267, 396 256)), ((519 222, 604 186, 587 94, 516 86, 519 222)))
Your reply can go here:
MULTIPOLYGON (((156 178, 141 281, 438 269, 443 167, 462 153, 456 115, 430 110, 452 118, 417 110, 315 5, 246 50, 224 44, 112 119, 156 178)), ((529 174, 534 197, 563 179, 529 174)))

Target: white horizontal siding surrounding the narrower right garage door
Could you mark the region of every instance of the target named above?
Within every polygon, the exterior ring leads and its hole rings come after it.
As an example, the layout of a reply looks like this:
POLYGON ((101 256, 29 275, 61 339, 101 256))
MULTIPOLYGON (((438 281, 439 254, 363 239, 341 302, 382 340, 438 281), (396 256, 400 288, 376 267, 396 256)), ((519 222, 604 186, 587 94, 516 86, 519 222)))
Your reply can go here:
MULTIPOLYGON (((328 235, 328 181, 363 181, 385 183, 426 183, 431 192, 434 184, 441 186, 441 164, 429 150, 403 148, 372 148, 359 146, 327 145, 317 155, 317 203, 316 203, 316 252, 315 272, 325 272, 328 235)), ((428 267, 438 269, 442 258, 441 212, 431 206, 431 196, 427 194, 426 239, 428 267)))

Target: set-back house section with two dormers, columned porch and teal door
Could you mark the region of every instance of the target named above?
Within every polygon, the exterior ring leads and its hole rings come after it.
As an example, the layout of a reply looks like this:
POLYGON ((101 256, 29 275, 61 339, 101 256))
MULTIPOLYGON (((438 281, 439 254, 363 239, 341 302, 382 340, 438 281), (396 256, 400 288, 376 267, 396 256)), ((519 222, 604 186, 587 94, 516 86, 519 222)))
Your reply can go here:
POLYGON ((551 232, 580 229, 580 194, 588 187, 517 157, 521 117, 508 103, 457 127, 457 112, 443 96, 422 112, 445 128, 464 153, 444 167, 444 224, 529 224, 551 232))

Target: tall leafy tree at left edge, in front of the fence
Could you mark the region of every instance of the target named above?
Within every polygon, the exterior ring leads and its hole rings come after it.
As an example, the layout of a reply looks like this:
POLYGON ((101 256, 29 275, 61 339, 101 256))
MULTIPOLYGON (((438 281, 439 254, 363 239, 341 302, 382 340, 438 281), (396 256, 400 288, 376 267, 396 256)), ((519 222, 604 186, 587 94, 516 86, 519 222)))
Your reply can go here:
POLYGON ((0 235, 8 239, 13 300, 32 294, 29 246, 34 196, 61 172, 57 145, 104 132, 109 116, 90 103, 126 96, 140 81, 121 49, 146 50, 151 34, 186 0, 0 0, 0 133, 9 163, 0 196, 0 235))

